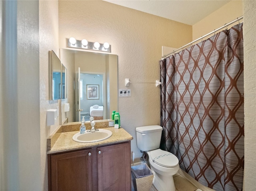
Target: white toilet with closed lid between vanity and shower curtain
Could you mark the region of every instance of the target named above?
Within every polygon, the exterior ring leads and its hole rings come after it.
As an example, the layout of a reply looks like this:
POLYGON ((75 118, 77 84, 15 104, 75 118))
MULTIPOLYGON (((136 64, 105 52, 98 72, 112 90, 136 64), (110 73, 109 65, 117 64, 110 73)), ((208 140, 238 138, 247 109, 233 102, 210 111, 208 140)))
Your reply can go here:
POLYGON ((159 125, 136 127, 137 147, 148 154, 154 187, 158 191, 175 191, 172 176, 180 168, 179 160, 174 154, 159 149, 162 130, 159 125))

